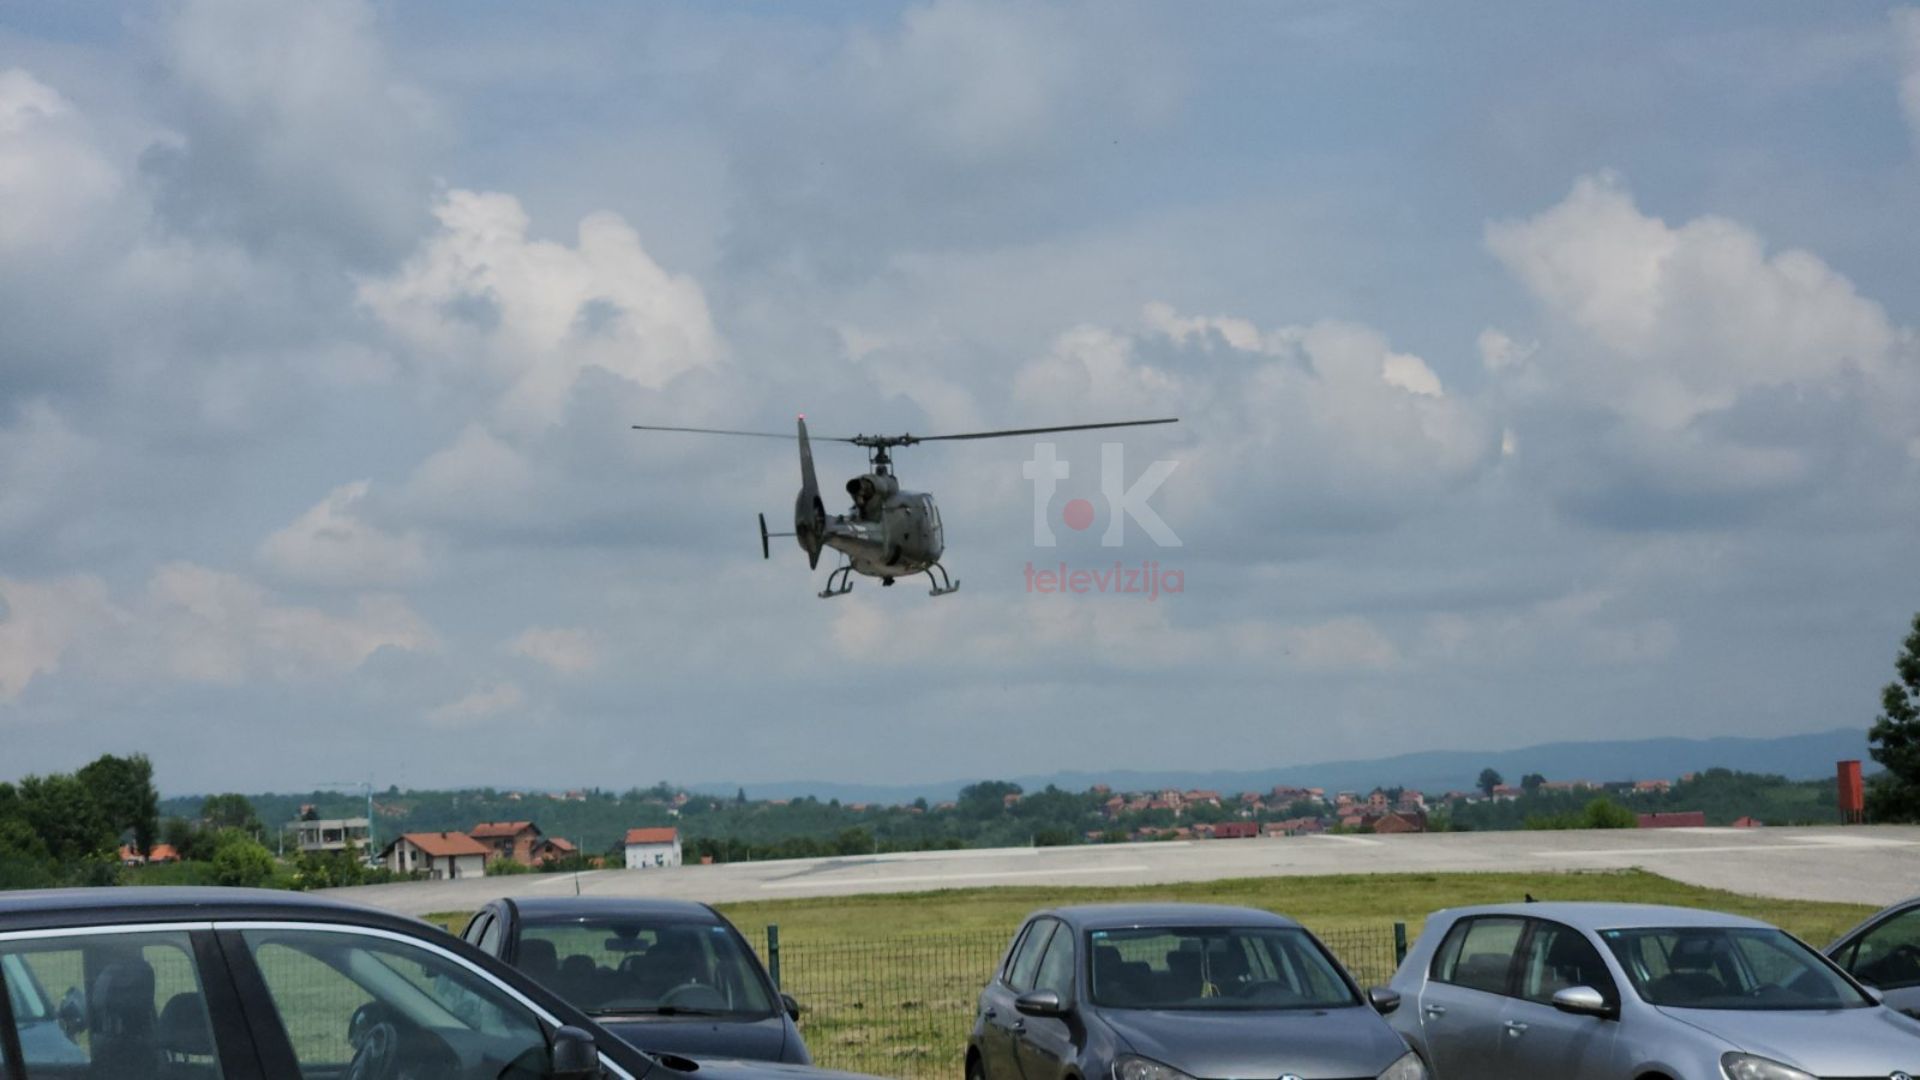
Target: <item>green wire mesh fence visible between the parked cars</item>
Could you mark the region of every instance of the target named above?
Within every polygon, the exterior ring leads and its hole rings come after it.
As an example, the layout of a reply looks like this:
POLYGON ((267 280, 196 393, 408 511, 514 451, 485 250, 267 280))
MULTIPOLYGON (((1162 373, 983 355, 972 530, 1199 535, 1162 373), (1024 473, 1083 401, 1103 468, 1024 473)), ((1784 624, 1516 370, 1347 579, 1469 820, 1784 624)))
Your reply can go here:
MULTIPOLYGON (((1405 955, 1405 924, 1317 934, 1354 980, 1386 982, 1405 955)), ((866 942, 781 938, 756 945, 780 988, 801 1003, 801 1032, 826 1068, 958 1080, 981 988, 1006 949, 1004 932, 916 934, 866 942)))

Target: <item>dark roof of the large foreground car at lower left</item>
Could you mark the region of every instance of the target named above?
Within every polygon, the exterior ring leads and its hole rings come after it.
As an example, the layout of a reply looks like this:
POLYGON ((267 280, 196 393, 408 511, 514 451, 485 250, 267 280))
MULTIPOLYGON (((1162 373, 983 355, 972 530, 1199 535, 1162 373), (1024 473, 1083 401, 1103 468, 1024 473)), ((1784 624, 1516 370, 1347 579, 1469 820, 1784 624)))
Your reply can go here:
POLYGON ((221 886, 109 886, 0 892, 0 930, 111 926, 119 922, 307 919, 361 926, 430 926, 359 903, 301 892, 221 886))

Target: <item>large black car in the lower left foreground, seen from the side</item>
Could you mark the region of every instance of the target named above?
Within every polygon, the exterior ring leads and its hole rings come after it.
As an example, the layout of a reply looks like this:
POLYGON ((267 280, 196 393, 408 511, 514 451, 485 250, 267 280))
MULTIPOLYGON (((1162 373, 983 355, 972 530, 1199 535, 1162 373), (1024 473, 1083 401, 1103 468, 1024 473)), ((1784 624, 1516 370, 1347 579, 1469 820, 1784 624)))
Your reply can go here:
POLYGON ((10 1080, 820 1080, 653 1057, 442 930, 301 894, 0 894, 10 1080))

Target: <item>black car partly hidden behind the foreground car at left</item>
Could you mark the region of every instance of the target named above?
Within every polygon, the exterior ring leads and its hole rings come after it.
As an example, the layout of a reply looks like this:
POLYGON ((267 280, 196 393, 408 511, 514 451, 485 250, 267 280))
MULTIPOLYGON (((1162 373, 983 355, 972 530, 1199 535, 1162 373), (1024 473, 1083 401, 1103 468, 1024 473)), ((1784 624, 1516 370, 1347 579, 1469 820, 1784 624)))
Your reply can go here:
POLYGON ((705 903, 495 899, 461 936, 637 1047, 812 1065, 799 1005, 705 903))

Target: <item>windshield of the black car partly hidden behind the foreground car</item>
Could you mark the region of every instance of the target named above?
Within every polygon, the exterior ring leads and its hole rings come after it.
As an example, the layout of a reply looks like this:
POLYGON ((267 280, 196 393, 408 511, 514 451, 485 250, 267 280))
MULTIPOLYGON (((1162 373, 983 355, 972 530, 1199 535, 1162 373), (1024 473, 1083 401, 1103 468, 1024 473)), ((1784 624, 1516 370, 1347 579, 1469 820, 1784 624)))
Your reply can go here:
POLYGON ((774 1013, 760 967, 726 926, 553 919, 520 928, 518 967, 593 1015, 774 1013))

